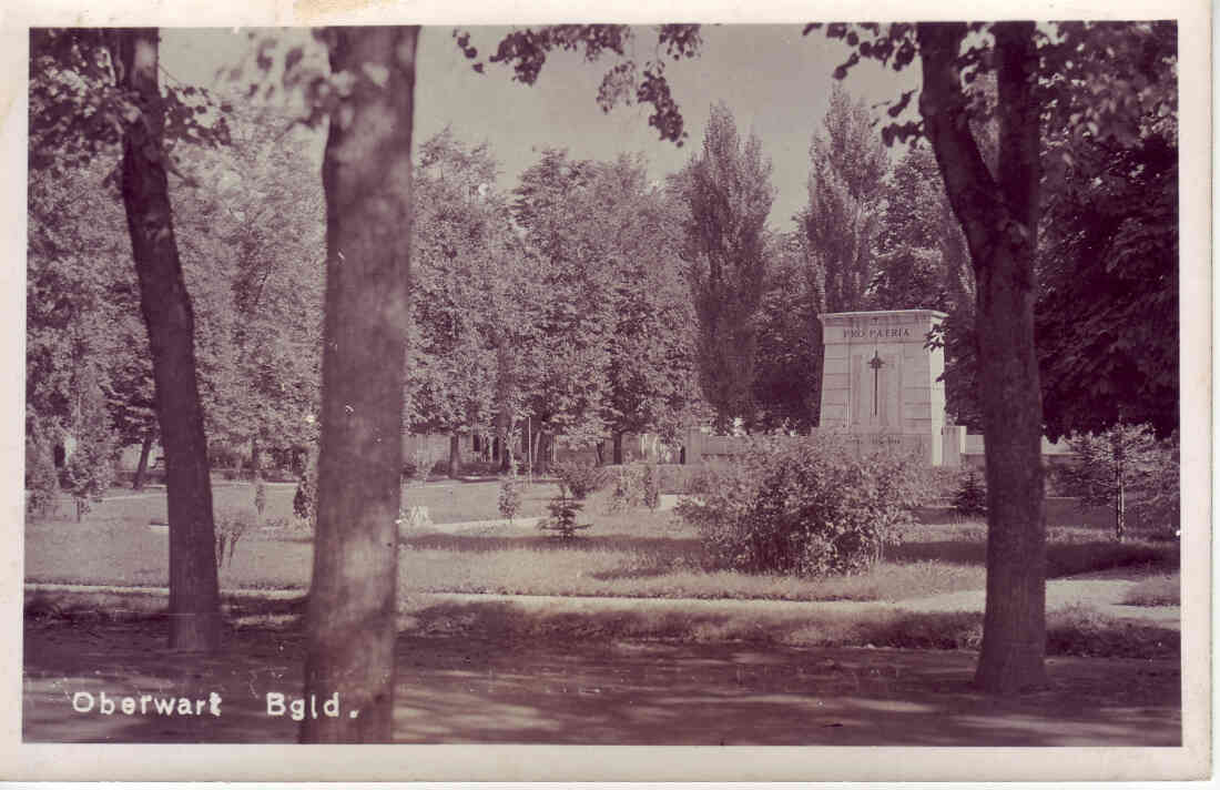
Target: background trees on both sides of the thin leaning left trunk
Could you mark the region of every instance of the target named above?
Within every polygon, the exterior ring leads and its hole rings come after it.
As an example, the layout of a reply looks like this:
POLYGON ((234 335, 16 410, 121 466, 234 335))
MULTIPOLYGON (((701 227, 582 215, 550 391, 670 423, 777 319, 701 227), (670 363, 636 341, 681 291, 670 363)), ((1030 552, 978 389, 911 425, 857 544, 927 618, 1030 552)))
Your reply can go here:
MULTIPOLYGON (((318 404, 322 194, 293 177, 309 159, 299 138, 272 137, 274 121, 229 112, 232 143, 192 151, 173 190, 207 436, 214 452, 253 446, 255 466, 260 447, 309 443, 318 404)), ((154 375, 112 169, 96 158, 29 172, 26 435, 44 464, 66 440, 74 453, 138 446, 139 487, 157 437, 154 375)))

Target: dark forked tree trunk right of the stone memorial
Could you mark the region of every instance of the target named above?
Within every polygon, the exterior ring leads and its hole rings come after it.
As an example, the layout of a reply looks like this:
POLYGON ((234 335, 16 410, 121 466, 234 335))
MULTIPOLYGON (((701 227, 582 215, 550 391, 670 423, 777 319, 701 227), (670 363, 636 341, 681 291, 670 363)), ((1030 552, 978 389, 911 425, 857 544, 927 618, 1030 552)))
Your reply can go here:
POLYGON ((965 24, 920 24, 920 112, 977 281, 987 446, 987 607, 975 676, 1009 694, 1046 684, 1046 510, 1042 398, 1033 347, 1038 103, 1031 22, 993 28, 999 164, 988 171, 966 116, 958 51, 965 24))

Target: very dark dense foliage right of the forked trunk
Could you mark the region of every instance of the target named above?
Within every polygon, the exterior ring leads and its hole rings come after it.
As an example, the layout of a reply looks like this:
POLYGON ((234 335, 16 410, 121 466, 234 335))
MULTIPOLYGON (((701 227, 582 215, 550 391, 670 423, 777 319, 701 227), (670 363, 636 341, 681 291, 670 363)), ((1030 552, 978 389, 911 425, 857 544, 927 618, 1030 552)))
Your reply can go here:
POLYGON ((1164 437, 1179 425, 1176 35, 1164 23, 1074 34, 1138 65, 1065 83, 1120 103, 1113 132, 1100 126, 1109 116, 1082 114, 1080 128, 1049 127, 1044 143, 1044 159, 1061 162, 1038 271, 1047 433, 1147 422, 1164 437))

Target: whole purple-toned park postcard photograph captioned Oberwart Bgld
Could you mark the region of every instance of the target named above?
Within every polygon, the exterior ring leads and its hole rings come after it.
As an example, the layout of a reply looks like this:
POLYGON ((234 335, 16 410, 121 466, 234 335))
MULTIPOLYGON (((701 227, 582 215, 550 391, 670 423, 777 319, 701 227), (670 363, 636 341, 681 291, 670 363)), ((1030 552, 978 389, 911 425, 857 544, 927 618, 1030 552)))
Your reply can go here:
POLYGON ((21 747, 1207 775, 1177 13, 393 22, 21 32, 21 747))

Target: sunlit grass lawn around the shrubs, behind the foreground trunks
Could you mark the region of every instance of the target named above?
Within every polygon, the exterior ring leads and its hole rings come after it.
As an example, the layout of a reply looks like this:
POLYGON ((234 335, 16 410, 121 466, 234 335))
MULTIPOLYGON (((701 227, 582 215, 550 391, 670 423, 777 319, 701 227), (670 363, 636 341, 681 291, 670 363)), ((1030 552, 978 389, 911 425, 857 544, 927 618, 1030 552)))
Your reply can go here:
MULTIPOLYGON (((521 514, 544 513, 554 485, 536 485, 521 514)), ((671 513, 606 514, 595 495, 582 515, 593 527, 562 541, 534 529, 493 526, 477 532, 445 531, 444 524, 498 518, 497 484, 429 485, 404 490, 407 506, 426 506, 437 529, 400 541, 399 579, 404 596, 471 592, 658 598, 771 598, 792 601, 900 601, 980 590, 985 586, 986 527, 927 509, 902 546, 866 574, 831 579, 752 575, 711 569, 697 532, 671 513)), ((292 486, 267 490, 266 516, 287 521, 292 486)), ((126 496, 131 496, 129 493, 126 496)), ((249 485, 215 490, 217 510, 253 509, 249 485)), ((44 582, 165 586, 167 542, 149 521, 165 519, 161 496, 110 499, 77 524, 30 524, 26 530, 26 579, 44 582)), ((1109 538, 1103 513, 1081 513, 1061 501, 1048 507, 1048 575, 1069 576, 1138 565, 1159 573, 1177 568, 1177 545, 1109 538)), ((288 527, 251 530, 232 562, 221 568, 224 589, 305 589, 312 564, 309 535, 288 527)))

